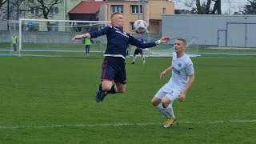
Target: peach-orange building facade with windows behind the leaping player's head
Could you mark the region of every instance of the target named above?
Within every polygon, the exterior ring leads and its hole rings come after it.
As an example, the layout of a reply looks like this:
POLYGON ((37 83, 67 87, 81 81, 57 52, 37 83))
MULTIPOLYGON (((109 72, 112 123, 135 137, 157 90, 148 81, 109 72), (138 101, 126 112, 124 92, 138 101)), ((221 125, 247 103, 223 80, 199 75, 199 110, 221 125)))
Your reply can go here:
POLYGON ((122 13, 125 17, 124 30, 129 33, 134 33, 134 22, 143 19, 148 23, 151 34, 161 34, 162 14, 174 14, 174 2, 166 0, 108 0, 106 5, 108 21, 114 12, 122 13))

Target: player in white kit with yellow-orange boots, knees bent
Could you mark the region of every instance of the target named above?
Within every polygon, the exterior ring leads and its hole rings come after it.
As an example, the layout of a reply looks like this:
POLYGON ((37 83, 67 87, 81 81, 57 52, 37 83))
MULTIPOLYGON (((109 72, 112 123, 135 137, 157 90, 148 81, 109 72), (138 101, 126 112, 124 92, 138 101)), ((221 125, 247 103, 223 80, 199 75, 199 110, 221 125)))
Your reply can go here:
POLYGON ((179 99, 183 102, 186 93, 194 82, 194 67, 190 57, 185 54, 186 40, 177 38, 174 43, 175 52, 173 54, 171 66, 162 71, 160 78, 171 72, 170 81, 167 82, 152 99, 153 106, 166 116, 165 128, 169 128, 175 120, 173 102, 179 99))

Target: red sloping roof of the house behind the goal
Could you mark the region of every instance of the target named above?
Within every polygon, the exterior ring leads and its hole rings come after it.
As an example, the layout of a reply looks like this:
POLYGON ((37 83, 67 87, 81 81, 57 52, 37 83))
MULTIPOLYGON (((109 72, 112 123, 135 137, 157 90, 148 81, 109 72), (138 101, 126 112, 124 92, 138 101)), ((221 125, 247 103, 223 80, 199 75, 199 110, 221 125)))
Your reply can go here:
POLYGON ((95 14, 102 7, 103 3, 105 2, 82 1, 78 3, 77 6, 74 6, 74 8, 69 11, 69 14, 95 14))

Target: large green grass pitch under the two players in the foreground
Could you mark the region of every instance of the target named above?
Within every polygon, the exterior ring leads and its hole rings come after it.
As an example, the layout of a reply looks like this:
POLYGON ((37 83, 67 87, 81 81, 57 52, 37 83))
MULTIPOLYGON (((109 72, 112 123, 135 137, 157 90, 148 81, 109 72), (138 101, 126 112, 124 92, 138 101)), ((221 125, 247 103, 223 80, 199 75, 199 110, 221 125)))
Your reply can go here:
POLYGON ((102 56, 0 57, 0 143, 255 143, 256 57, 192 58, 195 83, 174 102, 179 124, 150 104, 170 58, 126 59, 124 94, 96 103, 102 56), (118 125, 119 124, 119 125, 118 125))

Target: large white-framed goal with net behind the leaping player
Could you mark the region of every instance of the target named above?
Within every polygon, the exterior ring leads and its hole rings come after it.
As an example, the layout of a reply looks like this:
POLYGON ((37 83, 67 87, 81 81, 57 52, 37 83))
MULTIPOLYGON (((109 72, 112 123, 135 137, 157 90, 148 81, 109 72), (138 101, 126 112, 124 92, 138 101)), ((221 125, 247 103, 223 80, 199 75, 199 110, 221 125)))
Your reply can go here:
MULTIPOLYGON (((77 34, 100 30, 110 22, 20 19, 18 50, 20 54, 71 55, 86 54, 84 39, 71 42, 77 34), (74 54, 73 53, 73 54, 74 54)), ((94 38, 90 52, 102 54, 106 50, 106 36, 94 38)))

